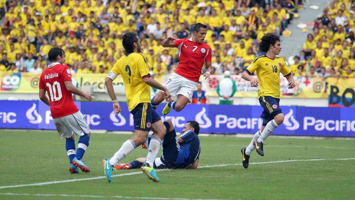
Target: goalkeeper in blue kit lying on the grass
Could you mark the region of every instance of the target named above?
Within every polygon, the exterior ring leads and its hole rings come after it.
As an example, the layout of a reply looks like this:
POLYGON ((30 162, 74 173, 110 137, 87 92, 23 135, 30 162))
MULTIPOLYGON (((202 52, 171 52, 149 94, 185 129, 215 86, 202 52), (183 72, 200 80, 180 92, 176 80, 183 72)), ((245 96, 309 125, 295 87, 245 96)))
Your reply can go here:
MULTIPOLYGON (((166 135, 164 136, 163 155, 155 158, 155 169, 197 169, 198 159, 201 153, 198 133, 200 125, 196 121, 188 121, 185 124, 183 134, 176 136, 173 123, 165 120, 166 135)), ((153 133, 154 134, 154 133, 153 133)), ((147 138, 143 148, 147 149, 153 135, 147 138)), ((129 164, 116 164, 116 169, 138 169, 146 162, 146 158, 138 158, 129 164)))

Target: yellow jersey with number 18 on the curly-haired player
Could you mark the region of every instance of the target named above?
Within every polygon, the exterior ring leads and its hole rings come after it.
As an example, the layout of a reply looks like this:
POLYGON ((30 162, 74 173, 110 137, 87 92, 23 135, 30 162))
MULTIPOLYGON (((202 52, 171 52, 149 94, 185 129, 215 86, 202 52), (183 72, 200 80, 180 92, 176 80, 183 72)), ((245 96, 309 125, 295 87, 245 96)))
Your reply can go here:
POLYGON ((255 58, 245 71, 249 75, 256 71, 260 84, 258 98, 261 96, 280 98, 280 72, 284 77, 291 75, 284 59, 280 57, 271 59, 266 55, 255 58))

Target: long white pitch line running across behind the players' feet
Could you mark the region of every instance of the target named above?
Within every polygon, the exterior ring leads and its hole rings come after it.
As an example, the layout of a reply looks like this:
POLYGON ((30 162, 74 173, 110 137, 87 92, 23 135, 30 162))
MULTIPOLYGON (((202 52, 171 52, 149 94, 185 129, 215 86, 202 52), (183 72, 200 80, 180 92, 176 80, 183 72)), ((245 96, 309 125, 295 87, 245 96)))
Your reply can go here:
MULTIPOLYGON (((268 163, 285 163, 285 162, 300 162, 300 161, 320 161, 320 160, 354 160, 355 158, 330 158, 330 159, 308 159, 308 160, 279 160, 279 161, 269 161, 269 162, 259 162, 259 163, 249 163, 249 164, 268 164, 268 163)), ((241 165, 241 163, 237 164, 219 164, 219 165, 206 165, 201 166, 198 168, 208 168, 208 167, 223 167, 223 166, 231 166, 231 165, 241 165)), ((168 171, 170 169, 160 169, 157 171, 168 171)), ((134 174, 141 174, 142 172, 131 172, 131 173, 124 173, 124 174, 117 174, 113 175, 112 177, 122 177, 122 176, 129 176, 134 174)), ((25 187, 25 186, 36 186, 36 185, 49 185, 49 184, 56 184, 56 183, 69 183, 75 181, 82 181, 82 180, 95 180, 95 179, 103 179, 105 176, 100 177, 91 177, 91 178, 83 178, 83 179, 69 179, 69 180, 59 180, 59 181, 49 181, 43 183, 33 183, 33 184, 23 184, 23 185, 5 185, 0 186, 0 189, 5 188, 18 188, 18 187, 25 187)))

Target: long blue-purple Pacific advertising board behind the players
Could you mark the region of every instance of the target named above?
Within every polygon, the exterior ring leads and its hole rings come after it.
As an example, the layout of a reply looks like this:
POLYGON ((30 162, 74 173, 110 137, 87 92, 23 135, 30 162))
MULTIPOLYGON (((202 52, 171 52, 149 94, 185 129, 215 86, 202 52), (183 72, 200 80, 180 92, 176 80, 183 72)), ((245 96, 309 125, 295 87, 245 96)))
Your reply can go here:
MULTIPOLYGON (((75 102, 91 129, 133 131, 133 116, 126 103, 113 114, 110 102, 75 102)), ((42 101, 0 101, 0 128, 56 129, 49 106, 42 101)), ((158 114, 163 105, 158 106, 158 114)), ((273 135, 355 137, 355 108, 283 106, 285 120, 273 135)), ((162 120, 181 132, 189 120, 200 123, 201 133, 255 133, 262 126, 261 106, 196 105, 172 110, 162 120)))

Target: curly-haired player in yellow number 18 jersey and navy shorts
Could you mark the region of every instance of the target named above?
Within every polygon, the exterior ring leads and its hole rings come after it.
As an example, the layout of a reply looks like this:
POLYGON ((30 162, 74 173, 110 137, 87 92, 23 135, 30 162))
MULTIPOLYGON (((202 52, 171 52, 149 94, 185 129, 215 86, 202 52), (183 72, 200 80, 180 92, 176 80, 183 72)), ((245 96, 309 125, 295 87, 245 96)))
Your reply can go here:
POLYGON ((265 33, 259 43, 259 50, 266 54, 255 58, 242 74, 243 79, 250 81, 250 86, 257 87, 260 83, 258 98, 264 109, 260 116, 263 118, 261 129, 255 133, 249 146, 241 149, 244 168, 248 168, 250 153, 254 149, 260 156, 264 156, 264 140, 284 121, 279 106, 280 73, 288 80, 289 89, 295 87, 290 69, 284 59, 277 57, 281 49, 280 37, 275 33, 265 33), (251 75, 253 72, 256 72, 257 78, 251 75))

